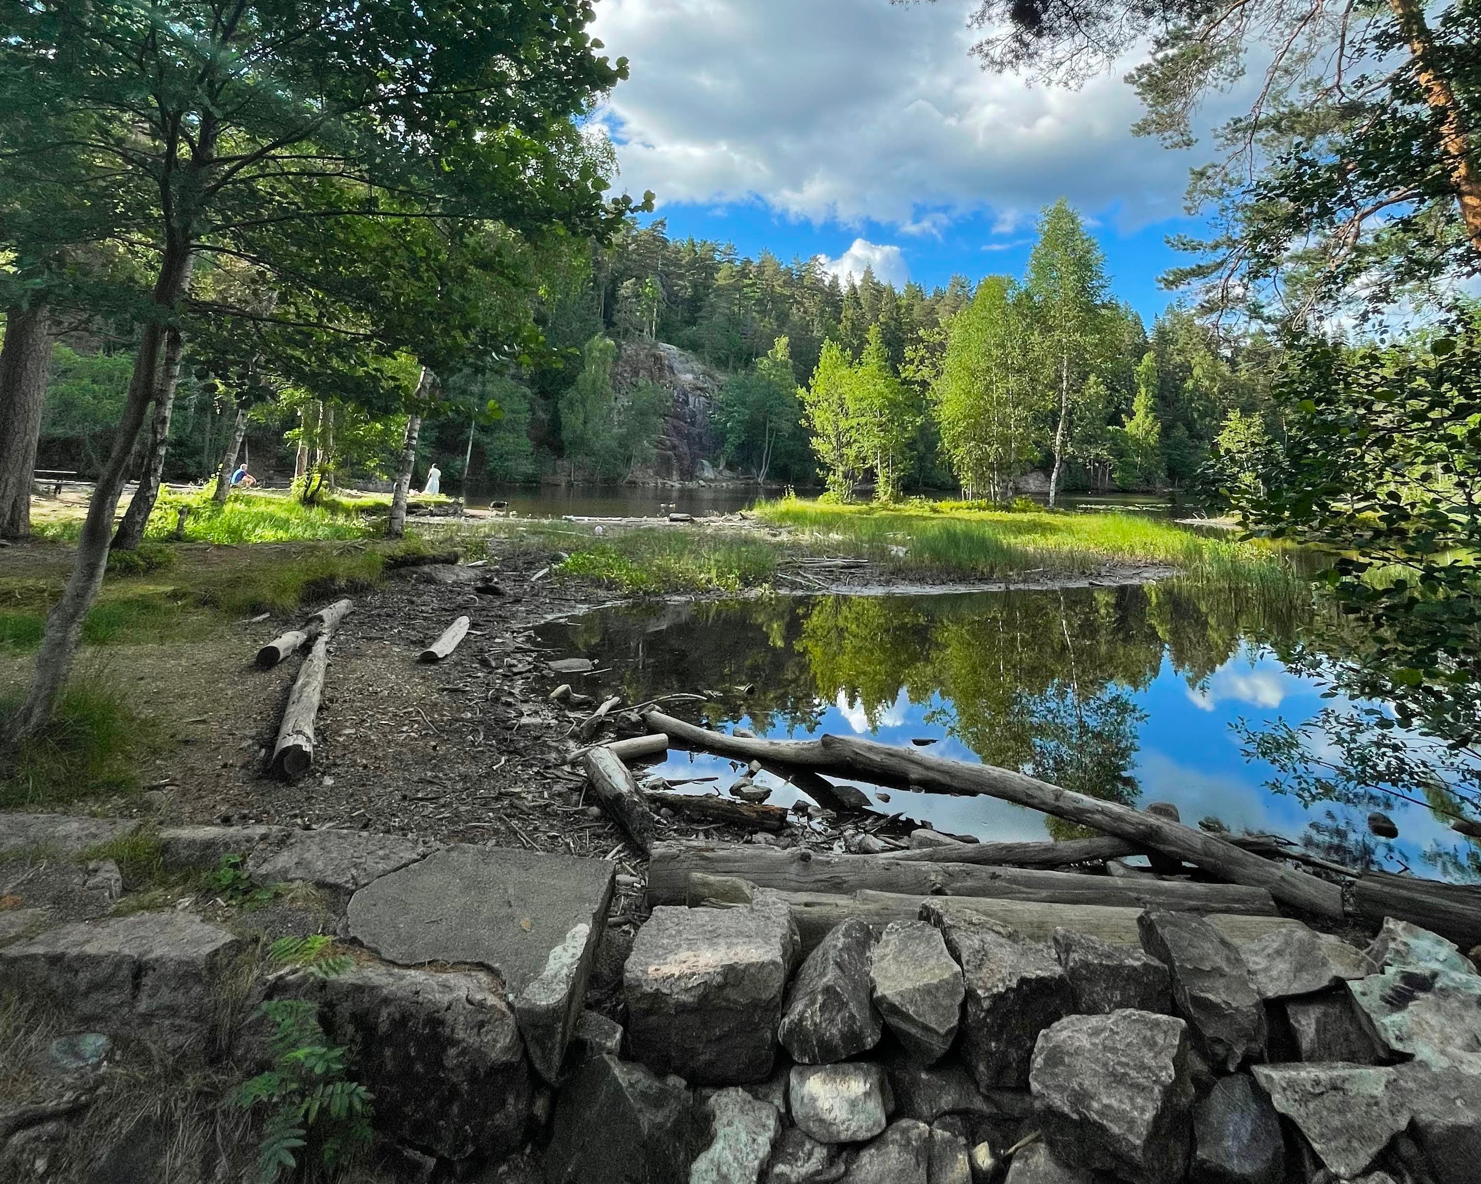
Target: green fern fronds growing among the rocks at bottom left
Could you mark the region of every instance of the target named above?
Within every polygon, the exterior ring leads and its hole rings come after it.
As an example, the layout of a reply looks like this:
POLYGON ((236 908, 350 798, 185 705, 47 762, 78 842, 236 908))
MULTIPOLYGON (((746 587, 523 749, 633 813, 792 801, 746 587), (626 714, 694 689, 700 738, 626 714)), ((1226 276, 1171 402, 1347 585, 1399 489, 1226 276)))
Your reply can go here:
MULTIPOLYGON (((323 935, 284 937, 268 947, 273 961, 301 966, 320 978, 348 971, 354 961, 333 953, 323 935)), ((308 999, 271 999, 258 1008, 271 1023, 273 1069, 243 1082, 235 1101, 246 1110, 264 1107, 258 1147, 258 1184, 274 1184, 298 1169, 298 1153, 310 1148, 333 1169, 370 1141, 373 1094, 348 1080, 345 1051, 330 1043, 308 999)))

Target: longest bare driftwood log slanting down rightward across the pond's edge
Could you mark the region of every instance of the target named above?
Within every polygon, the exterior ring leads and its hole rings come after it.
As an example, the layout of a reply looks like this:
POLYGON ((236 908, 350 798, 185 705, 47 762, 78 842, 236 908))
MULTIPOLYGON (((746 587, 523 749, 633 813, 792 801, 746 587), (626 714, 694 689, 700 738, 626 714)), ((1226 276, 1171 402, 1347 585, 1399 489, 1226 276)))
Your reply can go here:
POLYGON ((868 778, 878 784, 917 784, 937 793, 1000 798, 1186 860, 1219 879, 1263 888, 1275 900, 1294 909, 1330 919, 1343 916, 1342 888, 1336 884, 1241 851, 1234 844, 1182 823, 1074 793, 1013 770, 969 765, 843 736, 822 736, 818 740, 746 740, 709 733, 662 712, 649 712, 644 719, 652 731, 666 733, 675 744, 705 747, 708 743, 706 750, 721 756, 763 764, 776 761, 819 773, 868 778))

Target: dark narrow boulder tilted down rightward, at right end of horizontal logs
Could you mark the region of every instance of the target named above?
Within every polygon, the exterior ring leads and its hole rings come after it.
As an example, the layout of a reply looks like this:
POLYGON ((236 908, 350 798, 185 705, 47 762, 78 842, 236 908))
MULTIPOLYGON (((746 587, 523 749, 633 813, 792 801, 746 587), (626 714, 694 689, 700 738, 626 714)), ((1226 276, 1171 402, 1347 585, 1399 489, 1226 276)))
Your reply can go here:
POLYGON ((1192 913, 1146 910, 1142 949, 1173 975, 1173 1003, 1214 1070, 1232 1072, 1265 1048, 1265 1008, 1234 944, 1192 913))

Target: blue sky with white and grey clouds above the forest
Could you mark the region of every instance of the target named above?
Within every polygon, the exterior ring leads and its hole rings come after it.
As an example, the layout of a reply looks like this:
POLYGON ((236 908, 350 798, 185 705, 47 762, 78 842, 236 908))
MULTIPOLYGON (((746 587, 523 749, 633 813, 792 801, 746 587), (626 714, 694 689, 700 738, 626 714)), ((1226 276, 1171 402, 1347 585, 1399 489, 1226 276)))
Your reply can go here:
MULTIPOLYGON (((595 34, 629 59, 600 117, 619 188, 652 189, 677 237, 746 253, 871 262, 927 287, 1022 272, 1038 210, 1066 197, 1146 320, 1183 258, 1169 232, 1207 142, 1131 135, 1130 55, 1080 89, 983 73, 969 0, 600 0, 595 34)), ((1240 93, 1203 115, 1238 110, 1240 93)))

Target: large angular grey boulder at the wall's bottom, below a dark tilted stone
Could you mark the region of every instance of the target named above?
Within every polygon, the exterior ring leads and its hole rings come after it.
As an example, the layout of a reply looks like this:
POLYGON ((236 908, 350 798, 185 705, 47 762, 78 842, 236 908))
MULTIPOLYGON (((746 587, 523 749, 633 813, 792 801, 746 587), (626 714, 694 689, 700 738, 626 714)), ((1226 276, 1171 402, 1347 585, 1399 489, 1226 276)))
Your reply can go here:
POLYGON ((1078 1168, 1137 1184, 1188 1169, 1188 1026, 1171 1015, 1071 1015, 1044 1032, 1029 1073, 1044 1141, 1078 1168))

